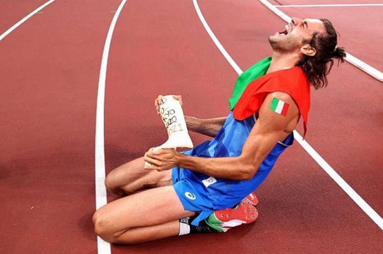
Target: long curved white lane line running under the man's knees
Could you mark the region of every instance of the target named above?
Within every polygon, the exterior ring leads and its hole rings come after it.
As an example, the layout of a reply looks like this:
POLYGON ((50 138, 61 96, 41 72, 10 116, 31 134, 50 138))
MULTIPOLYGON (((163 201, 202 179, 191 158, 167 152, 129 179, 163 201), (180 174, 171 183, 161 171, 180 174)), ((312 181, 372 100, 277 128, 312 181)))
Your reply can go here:
MULTIPOLYGON (((106 67, 108 64, 110 42, 118 16, 127 0, 122 0, 113 16, 112 22, 106 36, 104 50, 102 52, 100 76, 98 79, 97 106, 96 106, 96 149, 95 149, 95 171, 96 171, 96 210, 106 205, 105 188, 105 152, 104 152, 104 102, 105 102, 105 81, 106 67)), ((97 236, 97 253, 110 254, 110 244, 97 236)))

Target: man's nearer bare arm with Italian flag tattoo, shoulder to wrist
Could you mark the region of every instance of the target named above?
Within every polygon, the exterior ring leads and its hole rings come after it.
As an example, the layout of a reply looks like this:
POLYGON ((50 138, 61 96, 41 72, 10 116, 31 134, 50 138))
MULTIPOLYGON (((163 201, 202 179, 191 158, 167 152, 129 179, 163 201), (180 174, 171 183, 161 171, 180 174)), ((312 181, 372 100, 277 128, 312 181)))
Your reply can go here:
MULTIPOLYGON (((249 180, 273 149, 278 140, 286 136, 285 129, 296 121, 298 108, 292 98, 282 92, 266 96, 259 110, 259 118, 252 128, 239 157, 199 158, 177 153, 177 165, 219 178, 249 180), (269 109, 274 97, 290 105, 287 116, 279 115, 269 109), (290 125, 289 125, 290 124, 290 125)), ((296 124, 296 123, 295 123, 296 124)))

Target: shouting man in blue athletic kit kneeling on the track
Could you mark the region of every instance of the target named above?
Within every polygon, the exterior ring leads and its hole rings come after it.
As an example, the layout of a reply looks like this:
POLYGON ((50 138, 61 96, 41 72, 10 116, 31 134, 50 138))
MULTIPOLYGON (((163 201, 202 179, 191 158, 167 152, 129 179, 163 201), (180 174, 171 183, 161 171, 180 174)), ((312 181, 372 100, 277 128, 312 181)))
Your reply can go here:
MULTIPOLYGON (((95 212, 97 235, 111 243, 136 244, 222 232, 257 218, 252 191, 292 144, 300 116, 306 132, 310 85, 326 86, 332 59, 345 57, 327 19, 292 18, 269 42, 272 57, 239 76, 227 117, 186 117, 190 130, 212 141, 182 153, 151 148, 107 175, 106 187, 128 196, 95 212)), ((181 96, 175 98, 182 103, 181 96)))

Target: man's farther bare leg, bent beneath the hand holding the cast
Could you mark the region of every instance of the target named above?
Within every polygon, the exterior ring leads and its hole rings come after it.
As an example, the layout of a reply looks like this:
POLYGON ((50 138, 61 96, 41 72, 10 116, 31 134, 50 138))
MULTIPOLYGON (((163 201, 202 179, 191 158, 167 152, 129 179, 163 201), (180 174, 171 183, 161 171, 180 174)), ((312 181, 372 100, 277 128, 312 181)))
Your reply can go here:
POLYGON ((144 169, 144 157, 113 169, 105 179, 106 188, 124 196, 140 190, 172 184, 172 170, 162 172, 144 169))

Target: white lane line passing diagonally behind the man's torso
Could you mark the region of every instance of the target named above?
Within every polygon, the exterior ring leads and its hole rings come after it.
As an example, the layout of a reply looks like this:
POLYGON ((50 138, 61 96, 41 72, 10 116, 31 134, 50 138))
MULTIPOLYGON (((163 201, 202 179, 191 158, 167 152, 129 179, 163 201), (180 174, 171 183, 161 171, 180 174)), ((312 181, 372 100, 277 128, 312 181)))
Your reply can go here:
MULTIPOLYGON (((242 70, 238 67, 237 63, 234 62, 233 58, 230 57, 229 53, 225 50, 222 44, 218 41, 217 37, 211 31, 209 25, 207 24, 205 18, 203 17, 201 10, 199 9, 198 3, 196 0, 193 0, 195 11, 206 29, 207 33, 210 35, 213 42, 217 45, 219 50, 225 56, 226 60, 232 65, 232 67, 237 71, 238 75, 242 74, 242 70), (225 53, 223 53, 225 52, 225 53), (229 58, 226 57, 229 56, 229 58), (237 67, 237 68, 236 68, 237 67)), ((307 143, 302 139, 302 136, 294 130, 294 137, 296 141, 306 150, 306 152, 322 167, 330 177, 346 192, 348 196, 383 230, 383 219, 382 217, 375 212, 359 195, 356 193, 350 185, 348 185, 338 173, 307 143)))

